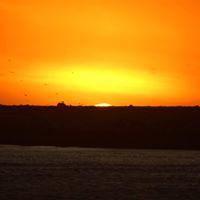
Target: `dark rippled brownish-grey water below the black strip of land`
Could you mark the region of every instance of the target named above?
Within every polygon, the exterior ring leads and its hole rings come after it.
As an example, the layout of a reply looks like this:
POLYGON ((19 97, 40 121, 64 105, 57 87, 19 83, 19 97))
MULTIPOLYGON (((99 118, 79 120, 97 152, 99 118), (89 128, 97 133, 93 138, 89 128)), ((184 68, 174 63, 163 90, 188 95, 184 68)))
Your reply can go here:
POLYGON ((0 146, 0 200, 200 199, 200 152, 0 146))

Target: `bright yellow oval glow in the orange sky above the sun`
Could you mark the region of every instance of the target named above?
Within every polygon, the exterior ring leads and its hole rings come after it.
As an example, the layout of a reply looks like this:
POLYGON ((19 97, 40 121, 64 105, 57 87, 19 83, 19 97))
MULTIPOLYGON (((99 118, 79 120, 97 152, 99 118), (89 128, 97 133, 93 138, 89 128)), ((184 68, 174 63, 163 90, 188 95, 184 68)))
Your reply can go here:
MULTIPOLYGON (((44 68, 44 67, 43 67, 44 68)), ((169 89, 162 78, 143 71, 91 64, 40 70, 42 80, 80 92, 112 94, 162 94, 169 89)))

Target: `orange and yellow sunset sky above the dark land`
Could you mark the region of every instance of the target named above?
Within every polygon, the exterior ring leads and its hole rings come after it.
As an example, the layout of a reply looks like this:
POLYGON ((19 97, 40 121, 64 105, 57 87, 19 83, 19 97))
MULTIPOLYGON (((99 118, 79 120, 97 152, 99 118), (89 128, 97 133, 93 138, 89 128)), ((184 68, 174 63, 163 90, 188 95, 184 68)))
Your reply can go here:
POLYGON ((200 104, 199 0, 0 0, 0 104, 200 104))

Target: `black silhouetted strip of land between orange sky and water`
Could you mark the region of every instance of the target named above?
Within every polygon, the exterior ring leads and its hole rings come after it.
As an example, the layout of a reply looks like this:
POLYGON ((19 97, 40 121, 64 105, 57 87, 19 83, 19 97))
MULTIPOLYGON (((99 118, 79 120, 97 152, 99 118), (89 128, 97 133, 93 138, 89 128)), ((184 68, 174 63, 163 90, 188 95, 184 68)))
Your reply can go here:
POLYGON ((200 149, 200 108, 0 106, 0 144, 200 149))

